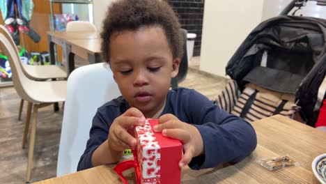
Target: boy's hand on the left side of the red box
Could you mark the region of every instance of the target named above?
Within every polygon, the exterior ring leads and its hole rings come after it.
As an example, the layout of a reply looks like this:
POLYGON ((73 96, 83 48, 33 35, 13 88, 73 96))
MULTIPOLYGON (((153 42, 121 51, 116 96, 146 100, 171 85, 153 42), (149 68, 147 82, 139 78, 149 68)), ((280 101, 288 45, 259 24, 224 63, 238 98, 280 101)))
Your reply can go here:
POLYGON ((121 114, 111 124, 109 130, 108 144, 109 148, 114 151, 124 151, 127 148, 134 148, 137 141, 128 130, 132 130, 134 125, 143 125, 145 117, 134 107, 121 114))

